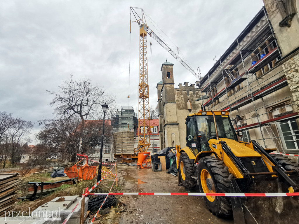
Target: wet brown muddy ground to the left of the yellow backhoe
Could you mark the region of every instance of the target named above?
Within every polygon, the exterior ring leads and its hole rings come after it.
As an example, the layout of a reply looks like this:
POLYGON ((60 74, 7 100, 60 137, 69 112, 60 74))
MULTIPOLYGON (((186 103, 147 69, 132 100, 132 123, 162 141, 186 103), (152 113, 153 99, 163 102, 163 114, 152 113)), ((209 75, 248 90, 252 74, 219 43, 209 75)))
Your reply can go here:
MULTIPOLYGON (((177 177, 165 171, 118 165, 118 176, 122 192, 188 192, 178 186, 177 177)), ((120 213, 120 224, 234 223, 211 214, 202 197, 125 195, 119 199, 127 205, 126 211, 120 213)))

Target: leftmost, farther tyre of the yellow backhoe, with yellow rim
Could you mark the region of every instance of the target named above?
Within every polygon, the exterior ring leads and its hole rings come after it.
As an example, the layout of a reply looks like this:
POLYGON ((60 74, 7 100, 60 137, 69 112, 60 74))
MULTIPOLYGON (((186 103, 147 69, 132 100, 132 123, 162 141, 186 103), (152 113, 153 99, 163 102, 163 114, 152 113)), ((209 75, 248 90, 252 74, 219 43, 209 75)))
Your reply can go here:
POLYGON ((192 178, 194 175, 193 163, 189 159, 186 153, 181 153, 179 159, 180 177, 181 182, 186 189, 192 189, 196 187, 196 179, 192 178))

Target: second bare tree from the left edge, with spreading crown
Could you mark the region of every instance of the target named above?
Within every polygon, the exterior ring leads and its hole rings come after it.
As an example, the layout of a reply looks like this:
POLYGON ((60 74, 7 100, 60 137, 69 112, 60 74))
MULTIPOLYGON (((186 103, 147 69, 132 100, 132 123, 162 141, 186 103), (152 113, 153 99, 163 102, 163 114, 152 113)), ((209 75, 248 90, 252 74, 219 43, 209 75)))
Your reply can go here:
POLYGON ((10 156, 13 167, 16 166, 16 162, 18 162, 21 157, 22 140, 28 140, 26 137, 28 137, 32 128, 33 124, 31 121, 25 121, 21 118, 14 118, 12 121, 8 135, 11 143, 10 156))

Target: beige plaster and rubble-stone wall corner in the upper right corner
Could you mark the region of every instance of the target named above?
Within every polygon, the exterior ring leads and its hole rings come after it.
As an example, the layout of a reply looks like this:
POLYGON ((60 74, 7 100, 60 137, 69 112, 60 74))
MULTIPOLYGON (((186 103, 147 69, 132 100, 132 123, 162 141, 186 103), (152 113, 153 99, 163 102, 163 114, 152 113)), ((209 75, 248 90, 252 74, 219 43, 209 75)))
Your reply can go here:
POLYGON ((283 66, 297 111, 299 110, 299 0, 264 0, 264 4, 280 46, 283 66), (282 23, 283 20, 287 23, 282 23))

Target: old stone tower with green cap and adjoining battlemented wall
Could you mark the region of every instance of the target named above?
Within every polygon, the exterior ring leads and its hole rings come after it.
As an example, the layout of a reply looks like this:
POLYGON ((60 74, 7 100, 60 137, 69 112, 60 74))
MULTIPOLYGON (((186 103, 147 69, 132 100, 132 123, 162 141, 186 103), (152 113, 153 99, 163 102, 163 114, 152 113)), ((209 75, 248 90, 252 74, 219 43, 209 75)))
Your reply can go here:
POLYGON ((199 88, 195 84, 179 84, 174 87, 173 64, 164 62, 161 66, 162 81, 157 84, 159 109, 160 148, 186 144, 185 118, 201 109, 199 88))

